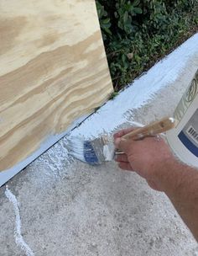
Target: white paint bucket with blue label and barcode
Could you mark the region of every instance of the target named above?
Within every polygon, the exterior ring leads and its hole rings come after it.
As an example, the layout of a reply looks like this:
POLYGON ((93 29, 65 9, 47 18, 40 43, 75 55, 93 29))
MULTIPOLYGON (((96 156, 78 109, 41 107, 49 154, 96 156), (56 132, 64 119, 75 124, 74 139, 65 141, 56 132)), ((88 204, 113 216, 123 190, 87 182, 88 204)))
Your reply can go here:
POLYGON ((169 145, 181 161, 198 167, 198 71, 174 115, 177 125, 167 132, 169 145))

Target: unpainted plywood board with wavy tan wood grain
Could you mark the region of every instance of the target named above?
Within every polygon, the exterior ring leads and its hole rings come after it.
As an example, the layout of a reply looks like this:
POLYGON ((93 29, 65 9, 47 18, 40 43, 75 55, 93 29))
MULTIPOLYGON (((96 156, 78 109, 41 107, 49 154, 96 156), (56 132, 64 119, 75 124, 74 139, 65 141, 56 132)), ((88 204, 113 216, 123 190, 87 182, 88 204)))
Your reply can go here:
POLYGON ((0 0, 0 171, 112 92, 94 0, 0 0))

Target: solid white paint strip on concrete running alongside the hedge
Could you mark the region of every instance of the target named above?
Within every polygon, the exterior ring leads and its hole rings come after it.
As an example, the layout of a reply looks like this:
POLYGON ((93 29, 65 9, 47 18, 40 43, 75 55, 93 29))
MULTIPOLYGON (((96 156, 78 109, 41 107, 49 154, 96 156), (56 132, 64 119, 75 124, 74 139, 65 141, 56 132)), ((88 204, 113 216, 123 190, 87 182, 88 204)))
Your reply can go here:
POLYGON ((186 40, 169 56, 159 61, 145 75, 136 79, 133 86, 123 90, 116 100, 111 100, 102 106, 102 109, 91 115, 75 131, 72 131, 71 136, 84 136, 89 139, 112 132, 118 125, 126 122, 126 113, 129 109, 132 111, 148 104, 160 89, 173 85, 183 72, 191 79, 187 63, 195 59, 195 55, 198 54, 197 42, 198 33, 186 40))

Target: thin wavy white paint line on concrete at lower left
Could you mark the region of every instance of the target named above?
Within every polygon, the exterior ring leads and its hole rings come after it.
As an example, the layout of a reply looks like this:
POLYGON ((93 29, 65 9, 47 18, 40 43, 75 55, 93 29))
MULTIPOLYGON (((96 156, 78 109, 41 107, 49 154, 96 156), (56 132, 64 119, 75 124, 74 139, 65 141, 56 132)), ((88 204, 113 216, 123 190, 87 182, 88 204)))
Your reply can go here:
POLYGON ((15 215, 15 228, 14 228, 14 237, 15 242, 19 248, 23 250, 26 256, 34 256, 33 251, 29 248, 29 245, 24 242, 23 236, 21 234, 21 217, 18 208, 18 200, 15 195, 6 187, 5 195, 8 200, 13 204, 13 211, 15 215))

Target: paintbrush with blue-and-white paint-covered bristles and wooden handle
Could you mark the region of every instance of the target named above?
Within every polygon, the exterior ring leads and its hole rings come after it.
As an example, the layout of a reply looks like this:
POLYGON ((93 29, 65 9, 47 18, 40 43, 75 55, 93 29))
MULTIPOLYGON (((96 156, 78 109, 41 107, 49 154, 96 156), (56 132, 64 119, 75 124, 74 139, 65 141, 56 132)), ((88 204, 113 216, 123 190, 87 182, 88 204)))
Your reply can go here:
MULTIPOLYGON (((169 131, 175 127, 175 119, 166 117, 162 120, 155 121, 149 125, 137 128, 127 135, 122 136, 124 139, 141 140, 148 136, 158 136, 164 131, 169 131)), ((115 149, 113 138, 110 136, 101 136, 91 141, 84 141, 81 138, 71 138, 67 145, 70 155, 76 157, 85 163, 101 164, 112 161, 117 154, 122 154, 115 149)))

